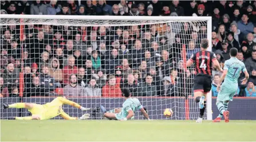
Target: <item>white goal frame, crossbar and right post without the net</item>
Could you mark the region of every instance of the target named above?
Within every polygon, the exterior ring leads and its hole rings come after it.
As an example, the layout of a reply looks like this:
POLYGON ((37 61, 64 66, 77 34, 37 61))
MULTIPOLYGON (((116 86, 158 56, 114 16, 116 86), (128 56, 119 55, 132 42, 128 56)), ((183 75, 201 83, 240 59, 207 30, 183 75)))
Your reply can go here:
MULTIPOLYGON (((90 20, 90 21, 207 21, 208 51, 211 47, 212 19, 211 17, 143 17, 143 16, 81 16, 81 15, 16 15, 1 14, 1 19, 61 19, 61 20, 90 20)), ((25 25, 22 24, 21 25, 25 25)), ((61 23, 61 25, 65 25, 61 23)), ((2 24, 0 24, 2 26, 2 24)), ((104 25, 103 25, 104 26, 104 25)), ((106 25, 107 26, 107 25, 106 25)), ((108 25, 109 26, 109 25, 108 25)), ((212 120, 212 94, 207 94, 207 120, 212 120)))

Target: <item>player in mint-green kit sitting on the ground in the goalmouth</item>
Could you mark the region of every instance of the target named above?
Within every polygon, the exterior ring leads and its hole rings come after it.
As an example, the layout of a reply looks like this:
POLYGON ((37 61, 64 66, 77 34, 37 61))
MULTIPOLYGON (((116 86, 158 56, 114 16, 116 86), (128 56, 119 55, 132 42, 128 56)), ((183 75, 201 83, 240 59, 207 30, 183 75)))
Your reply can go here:
POLYGON ((125 121, 131 119, 134 116, 134 112, 137 109, 140 109, 141 113, 143 113, 143 115, 149 120, 148 114, 140 104, 140 101, 137 98, 131 98, 131 92, 128 88, 123 89, 123 96, 125 99, 123 108, 115 108, 106 112, 105 108, 101 106, 101 110, 104 112, 105 117, 109 119, 125 121))

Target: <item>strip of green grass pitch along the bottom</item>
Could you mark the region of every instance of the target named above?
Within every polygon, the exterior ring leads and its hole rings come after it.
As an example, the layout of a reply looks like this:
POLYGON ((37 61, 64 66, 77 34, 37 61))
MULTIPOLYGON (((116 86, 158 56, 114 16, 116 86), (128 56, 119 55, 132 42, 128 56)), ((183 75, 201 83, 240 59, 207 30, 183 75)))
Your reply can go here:
POLYGON ((255 141, 256 121, 1 120, 1 141, 255 141))

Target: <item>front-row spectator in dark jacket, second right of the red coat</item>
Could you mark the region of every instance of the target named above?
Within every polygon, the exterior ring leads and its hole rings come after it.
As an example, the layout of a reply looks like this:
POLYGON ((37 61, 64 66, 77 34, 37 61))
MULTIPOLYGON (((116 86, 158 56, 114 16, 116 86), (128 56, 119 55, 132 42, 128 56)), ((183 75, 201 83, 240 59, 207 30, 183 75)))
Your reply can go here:
POLYGON ((145 83, 141 83, 142 96, 156 96, 156 86, 152 83, 153 78, 151 75, 147 75, 145 83))

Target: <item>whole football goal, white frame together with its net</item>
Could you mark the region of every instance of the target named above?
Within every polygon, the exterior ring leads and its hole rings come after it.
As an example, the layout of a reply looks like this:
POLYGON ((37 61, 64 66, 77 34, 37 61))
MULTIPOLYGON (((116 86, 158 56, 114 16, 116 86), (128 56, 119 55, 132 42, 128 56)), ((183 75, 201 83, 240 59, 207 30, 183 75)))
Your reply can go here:
MULTIPOLYGON (((18 80, 10 83, 10 78, 3 78, 5 83, 0 85, 8 88, 9 95, 1 94, 3 95, 1 103, 44 104, 50 102, 56 96, 54 89, 65 88, 68 85, 64 81, 68 78, 64 75, 63 68, 69 64, 68 57, 73 55, 74 66, 85 69, 84 76, 87 77, 85 80, 88 81, 92 76, 96 77, 96 83, 100 89, 100 95, 86 94, 86 91, 90 91, 90 89, 86 90, 86 87, 90 87, 88 86, 90 83, 86 84, 84 81, 81 84, 78 79, 77 85, 81 87, 84 85, 81 89, 82 93, 78 94, 78 89, 72 89, 73 94, 70 95, 72 91, 69 92, 68 98, 80 103, 83 107, 97 108, 100 105, 107 109, 121 107, 124 102, 121 94, 114 91, 106 96, 103 91, 109 81, 101 77, 101 72, 107 78, 112 74, 116 74, 116 78, 121 76, 120 84, 116 85, 117 90, 123 84, 125 86, 123 82, 131 81, 128 74, 133 74, 135 78, 133 86, 136 86, 133 87, 133 91, 136 90, 133 95, 139 98, 141 104, 147 108, 151 119, 194 120, 198 117, 198 104, 192 98, 194 68, 186 70, 186 60, 190 58, 192 52, 199 50, 200 40, 203 38, 208 39, 210 44, 208 50, 211 51, 211 17, 6 14, 1 15, 0 26, 1 74, 6 74, 4 70, 8 70, 7 66, 13 63, 17 71, 12 74, 15 74, 18 80), (93 55, 91 56, 93 50, 96 50, 99 59, 93 60, 93 55), (53 58, 57 60, 52 61, 53 58), (58 76, 52 76, 55 80, 53 88, 40 85, 40 92, 37 92, 38 88, 31 90, 30 88, 35 86, 33 84, 35 81, 28 70, 38 68, 38 73, 34 75, 40 76, 40 72, 42 73, 40 66, 53 67, 53 62, 60 64, 64 80, 58 76), (119 71, 121 75, 117 75, 119 71), (148 74, 153 76, 152 81, 147 78, 148 74), (29 75, 31 76, 28 77, 29 75), (11 95, 15 96, 11 94, 15 86, 19 89, 16 98, 11 97, 11 95), (163 110, 166 108, 172 108, 174 111, 172 117, 163 116, 163 110)), ((50 70, 57 70, 53 68, 50 67, 50 70)), ((78 74, 77 76, 82 74, 79 71, 73 73, 78 74)), ((45 83, 48 81, 40 80, 45 83)), ((71 116, 82 114, 76 108, 67 106, 64 106, 64 111, 71 116)), ((7 116, 28 115, 25 109, 6 110, 2 106, 1 113, 1 119, 7 116)), ((100 116, 96 117, 93 119, 100 119, 100 116)), ((56 117, 56 119, 60 118, 56 117)), ((135 119, 143 119, 143 116, 136 113, 135 119)), ((211 92, 207 96, 204 119, 212 120, 211 92)))

